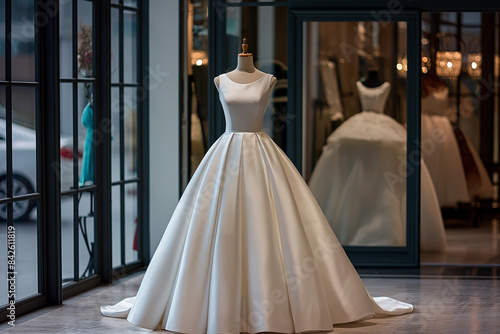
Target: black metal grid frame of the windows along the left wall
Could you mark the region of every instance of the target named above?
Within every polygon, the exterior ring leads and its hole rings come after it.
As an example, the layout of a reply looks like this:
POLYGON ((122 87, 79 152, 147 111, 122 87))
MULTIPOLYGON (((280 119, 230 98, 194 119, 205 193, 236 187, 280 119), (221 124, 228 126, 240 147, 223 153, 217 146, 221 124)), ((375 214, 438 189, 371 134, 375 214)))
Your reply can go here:
MULTIPOLYGON (((6 13, 11 13, 11 3, 6 0, 6 13)), ((34 309, 47 305, 60 305, 65 298, 88 290, 99 284, 109 284, 114 277, 123 276, 143 268, 149 263, 149 1, 137 2, 137 41, 138 41, 138 85, 141 99, 138 103, 137 117, 137 169, 140 175, 138 182, 138 257, 131 265, 118 270, 112 267, 112 234, 111 234, 111 1, 90 0, 94 5, 93 29, 98 33, 94 37, 94 131, 104 136, 96 145, 95 160, 99 172, 95 174, 95 242, 96 242, 96 274, 62 285, 62 250, 61 250, 61 187, 60 170, 54 168, 60 163, 60 54, 59 54, 59 1, 33 0, 35 6, 35 43, 36 43, 36 77, 35 82, 12 82, 10 77, 0 81, 0 86, 11 90, 14 86, 36 87, 36 133, 37 133, 37 189, 32 194, 12 198, 7 196, 0 204, 7 204, 12 225, 12 203, 20 200, 37 200, 38 210, 38 287, 39 292, 15 301, 16 317, 34 309), (42 149, 43 148, 43 149, 42 149)), ((77 0, 73 0, 76 2, 77 0)), ((113 6, 116 4, 113 4, 113 6)), ((120 0, 118 5, 123 5, 120 0)), ((129 9, 127 6, 124 8, 129 9)), ((132 7, 133 8, 133 7, 132 7)), ((10 18, 6 15, 6 34, 10 33, 10 18)), ((11 45, 6 40, 6 55, 10 55, 11 45)), ((9 57, 10 59, 10 57, 9 57)), ((6 75, 10 75, 11 63, 6 59, 6 75)), ((80 80, 80 79, 78 79, 80 80)), ((65 80, 66 81, 66 80, 65 80)), ((82 81, 82 80, 80 80, 82 81)), ((83 80, 85 81, 85 80, 83 80)), ((7 95, 9 96, 9 95, 7 95)), ((12 123, 12 99, 6 106, 7 124, 12 123)), ((7 142, 12 142, 12 130, 7 130, 7 142)), ((7 145, 9 146, 9 145, 7 145)), ((74 147, 78 150, 78 147, 74 147)), ((8 160, 8 194, 12 195, 12 145, 7 150, 8 160)), ((75 156, 75 155, 74 155, 75 156)), ((75 157, 76 158, 76 157, 75 157)), ((77 158, 76 158, 77 159, 77 158)), ((77 167, 76 167, 77 168, 77 167)), ((74 176, 76 178, 76 176, 74 176)), ((85 191, 88 188, 85 188, 85 191)), ((64 192, 77 196, 79 189, 64 192)), ((8 321, 8 304, 0 305, 1 321, 8 321)))

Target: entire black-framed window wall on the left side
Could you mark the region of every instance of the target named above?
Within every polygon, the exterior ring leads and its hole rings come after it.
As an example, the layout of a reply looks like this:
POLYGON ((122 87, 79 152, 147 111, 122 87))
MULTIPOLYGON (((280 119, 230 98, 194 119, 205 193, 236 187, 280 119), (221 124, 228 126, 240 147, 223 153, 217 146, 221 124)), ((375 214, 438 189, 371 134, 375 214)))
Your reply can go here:
POLYGON ((16 272, 2 319, 10 302, 16 315, 61 304, 149 261, 148 10, 0 0, 0 243, 15 240, 0 279, 16 272))

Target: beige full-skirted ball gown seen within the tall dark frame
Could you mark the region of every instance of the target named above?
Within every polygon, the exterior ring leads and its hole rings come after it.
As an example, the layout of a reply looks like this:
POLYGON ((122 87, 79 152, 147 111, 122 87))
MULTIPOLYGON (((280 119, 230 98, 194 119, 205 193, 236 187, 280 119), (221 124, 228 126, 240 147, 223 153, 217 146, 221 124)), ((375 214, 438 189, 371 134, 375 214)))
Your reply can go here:
MULTIPOLYGON (((364 111, 328 137, 309 187, 342 245, 405 246, 406 130, 383 114, 390 83, 356 83, 364 111)), ((409 168, 411 171, 411 168, 409 168)), ((446 248, 441 211, 421 164, 421 250, 446 248)))

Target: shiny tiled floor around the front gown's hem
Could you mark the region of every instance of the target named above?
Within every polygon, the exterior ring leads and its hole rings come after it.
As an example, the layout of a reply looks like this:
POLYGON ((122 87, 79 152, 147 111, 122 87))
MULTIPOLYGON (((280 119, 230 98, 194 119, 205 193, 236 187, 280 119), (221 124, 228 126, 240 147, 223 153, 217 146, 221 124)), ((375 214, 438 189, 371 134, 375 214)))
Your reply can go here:
MULTIPOLYGON (((99 306, 137 291, 143 273, 17 319, 7 333, 152 333, 125 319, 101 316, 99 306)), ((461 278, 364 278, 373 296, 391 296, 415 305, 409 315, 336 325, 333 333, 493 333, 500 334, 500 280, 461 278)), ((154 331, 155 333, 166 331, 154 331)))

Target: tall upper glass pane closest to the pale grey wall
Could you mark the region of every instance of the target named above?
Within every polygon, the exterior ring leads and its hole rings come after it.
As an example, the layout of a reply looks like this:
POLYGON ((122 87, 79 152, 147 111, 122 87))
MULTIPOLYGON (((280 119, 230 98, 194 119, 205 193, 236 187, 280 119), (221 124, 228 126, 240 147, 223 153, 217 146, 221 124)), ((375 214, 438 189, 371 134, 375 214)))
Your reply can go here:
POLYGON ((137 14, 123 11, 123 66, 126 83, 137 82, 137 14))

